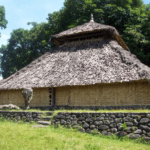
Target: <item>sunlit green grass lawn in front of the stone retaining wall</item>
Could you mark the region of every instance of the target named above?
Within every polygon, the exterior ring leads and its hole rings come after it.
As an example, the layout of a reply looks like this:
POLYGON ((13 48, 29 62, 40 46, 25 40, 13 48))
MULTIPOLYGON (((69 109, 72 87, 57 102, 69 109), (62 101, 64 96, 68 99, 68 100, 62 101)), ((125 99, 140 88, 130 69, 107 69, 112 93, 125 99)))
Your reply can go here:
POLYGON ((127 138, 91 135, 63 127, 32 128, 0 121, 0 150, 149 150, 150 145, 127 138))

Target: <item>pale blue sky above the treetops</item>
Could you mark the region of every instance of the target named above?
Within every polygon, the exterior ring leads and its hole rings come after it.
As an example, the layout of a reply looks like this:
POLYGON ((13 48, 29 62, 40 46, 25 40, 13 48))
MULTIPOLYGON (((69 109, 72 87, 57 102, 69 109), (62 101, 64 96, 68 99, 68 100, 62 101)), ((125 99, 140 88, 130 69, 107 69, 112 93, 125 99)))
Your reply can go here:
MULTIPOLYGON (((14 29, 30 29, 27 22, 47 22, 48 13, 58 11, 63 7, 65 0, 0 0, 0 5, 5 7, 6 29, 0 29, 0 47, 7 44, 10 33, 14 29)), ((145 4, 150 0, 144 0, 145 4)))

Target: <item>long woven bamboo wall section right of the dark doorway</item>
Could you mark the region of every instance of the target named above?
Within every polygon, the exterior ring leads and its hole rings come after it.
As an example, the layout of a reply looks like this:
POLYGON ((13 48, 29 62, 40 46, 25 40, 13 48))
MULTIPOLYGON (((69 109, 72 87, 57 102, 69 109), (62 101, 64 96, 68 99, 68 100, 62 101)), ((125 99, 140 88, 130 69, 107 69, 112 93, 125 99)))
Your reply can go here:
POLYGON ((150 84, 121 83, 56 88, 56 105, 150 105, 150 84))

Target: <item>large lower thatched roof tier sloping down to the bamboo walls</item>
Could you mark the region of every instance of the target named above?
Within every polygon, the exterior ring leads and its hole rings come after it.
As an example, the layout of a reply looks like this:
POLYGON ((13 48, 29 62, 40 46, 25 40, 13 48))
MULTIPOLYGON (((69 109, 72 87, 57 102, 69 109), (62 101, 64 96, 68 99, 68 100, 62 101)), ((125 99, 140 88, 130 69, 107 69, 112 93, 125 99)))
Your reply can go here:
POLYGON ((150 79, 150 68, 115 40, 70 42, 0 81, 0 89, 58 87, 150 79))

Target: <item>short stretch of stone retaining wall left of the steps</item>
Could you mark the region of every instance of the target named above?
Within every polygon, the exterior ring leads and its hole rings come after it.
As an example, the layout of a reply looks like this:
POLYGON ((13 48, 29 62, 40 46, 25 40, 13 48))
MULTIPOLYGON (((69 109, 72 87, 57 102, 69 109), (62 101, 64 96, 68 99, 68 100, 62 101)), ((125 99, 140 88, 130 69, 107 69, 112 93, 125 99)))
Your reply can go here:
POLYGON ((41 118, 42 112, 25 112, 25 111, 0 111, 0 116, 3 116, 6 119, 10 120, 25 120, 29 121, 39 121, 41 118))

